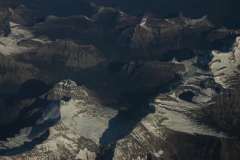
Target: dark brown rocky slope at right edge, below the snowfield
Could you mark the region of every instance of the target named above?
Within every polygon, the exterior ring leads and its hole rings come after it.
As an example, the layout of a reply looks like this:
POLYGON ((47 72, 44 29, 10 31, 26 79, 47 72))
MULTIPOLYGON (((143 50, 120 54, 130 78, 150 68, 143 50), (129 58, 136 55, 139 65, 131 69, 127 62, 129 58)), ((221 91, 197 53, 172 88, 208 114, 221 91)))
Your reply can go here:
POLYGON ((240 108, 239 94, 225 91, 213 98, 213 104, 204 108, 200 119, 206 123, 227 131, 229 134, 239 136, 240 108))

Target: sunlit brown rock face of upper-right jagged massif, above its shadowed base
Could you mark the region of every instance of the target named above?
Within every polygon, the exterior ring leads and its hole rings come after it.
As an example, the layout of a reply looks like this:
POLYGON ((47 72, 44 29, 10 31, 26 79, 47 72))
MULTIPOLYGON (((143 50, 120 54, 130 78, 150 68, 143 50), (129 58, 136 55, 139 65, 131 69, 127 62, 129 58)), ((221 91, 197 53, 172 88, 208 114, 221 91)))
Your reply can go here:
POLYGON ((152 44, 162 46, 162 49, 164 49, 162 52, 165 52, 169 49, 179 48, 185 45, 184 43, 189 41, 188 38, 190 38, 191 41, 199 38, 202 32, 211 28, 213 28, 213 26, 206 17, 191 20, 185 17, 155 19, 144 16, 133 33, 131 47, 146 48, 152 44), (193 32, 194 36, 190 36, 193 35, 193 32))

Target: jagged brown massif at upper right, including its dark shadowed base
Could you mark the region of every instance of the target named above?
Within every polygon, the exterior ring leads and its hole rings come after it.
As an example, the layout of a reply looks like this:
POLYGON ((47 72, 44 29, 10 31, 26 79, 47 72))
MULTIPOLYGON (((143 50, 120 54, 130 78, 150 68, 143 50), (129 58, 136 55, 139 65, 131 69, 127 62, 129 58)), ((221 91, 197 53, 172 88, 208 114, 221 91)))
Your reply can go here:
POLYGON ((206 16, 200 19, 182 16, 160 19, 146 14, 135 24, 134 29, 132 26, 125 27, 120 40, 124 47, 133 50, 131 54, 134 56, 162 57, 162 54, 169 50, 196 46, 200 43, 202 34, 213 28, 206 16))

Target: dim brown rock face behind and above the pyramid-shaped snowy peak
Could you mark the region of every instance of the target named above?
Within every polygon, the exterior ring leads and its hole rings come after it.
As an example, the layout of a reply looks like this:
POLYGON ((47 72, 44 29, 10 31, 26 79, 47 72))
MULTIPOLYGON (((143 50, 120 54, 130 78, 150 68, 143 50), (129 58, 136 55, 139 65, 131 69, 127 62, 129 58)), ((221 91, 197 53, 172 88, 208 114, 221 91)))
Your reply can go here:
POLYGON ((42 45, 37 50, 36 58, 42 61, 48 59, 49 63, 59 61, 60 67, 74 70, 95 67, 103 61, 99 56, 99 51, 94 46, 79 45, 72 41, 58 41, 42 45))

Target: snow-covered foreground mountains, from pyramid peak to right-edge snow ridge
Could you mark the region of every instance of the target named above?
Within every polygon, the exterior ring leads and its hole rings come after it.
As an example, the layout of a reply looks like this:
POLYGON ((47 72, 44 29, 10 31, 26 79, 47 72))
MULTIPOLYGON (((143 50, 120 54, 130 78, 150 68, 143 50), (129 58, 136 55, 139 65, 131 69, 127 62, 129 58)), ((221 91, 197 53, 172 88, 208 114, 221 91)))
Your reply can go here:
POLYGON ((213 64, 219 63, 217 67, 226 71, 221 75, 235 76, 239 46, 237 38, 230 52, 216 54, 212 51, 190 60, 175 61, 184 64, 187 70, 182 72, 182 83, 169 93, 153 97, 149 106, 130 113, 103 106, 85 86, 63 80, 41 96, 51 102, 39 111, 41 116, 34 126, 22 128, 15 137, 1 141, 1 158, 95 159, 108 155, 110 150, 113 155, 107 159, 146 159, 149 153, 153 159, 159 159, 169 156, 171 150, 172 155, 177 155, 174 145, 170 149, 166 147, 174 131, 230 139, 232 137, 224 130, 199 121, 201 110, 216 103, 212 97, 222 94, 216 88, 199 84, 215 78, 220 79, 216 83, 222 88, 226 87, 213 64), (232 59, 222 62, 222 56, 232 59), (206 64, 208 71, 201 69, 201 65, 206 64), (192 98, 182 98, 180 95, 184 93, 192 93, 192 98))

